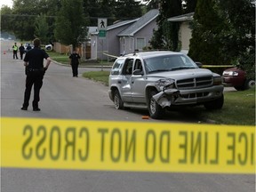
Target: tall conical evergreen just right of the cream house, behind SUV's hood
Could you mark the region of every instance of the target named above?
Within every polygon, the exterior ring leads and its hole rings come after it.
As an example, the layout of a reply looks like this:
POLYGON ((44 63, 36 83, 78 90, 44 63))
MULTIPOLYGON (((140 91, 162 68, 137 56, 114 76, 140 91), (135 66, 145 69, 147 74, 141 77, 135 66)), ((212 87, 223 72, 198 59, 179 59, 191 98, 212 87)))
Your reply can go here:
POLYGON ((218 38, 224 23, 214 7, 214 0, 197 0, 188 55, 204 64, 227 64, 218 38))

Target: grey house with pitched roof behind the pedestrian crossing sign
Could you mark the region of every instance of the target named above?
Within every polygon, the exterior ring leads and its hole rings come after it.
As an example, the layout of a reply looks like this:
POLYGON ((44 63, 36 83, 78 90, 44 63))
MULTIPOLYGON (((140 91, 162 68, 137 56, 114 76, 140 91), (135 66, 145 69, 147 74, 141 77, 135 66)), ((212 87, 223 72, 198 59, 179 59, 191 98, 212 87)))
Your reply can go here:
POLYGON ((116 22, 107 27, 106 37, 100 37, 99 31, 91 33, 91 58, 105 60, 108 58, 106 54, 119 56, 135 50, 142 51, 149 45, 153 29, 157 29, 158 14, 159 11, 153 9, 138 19, 116 22))

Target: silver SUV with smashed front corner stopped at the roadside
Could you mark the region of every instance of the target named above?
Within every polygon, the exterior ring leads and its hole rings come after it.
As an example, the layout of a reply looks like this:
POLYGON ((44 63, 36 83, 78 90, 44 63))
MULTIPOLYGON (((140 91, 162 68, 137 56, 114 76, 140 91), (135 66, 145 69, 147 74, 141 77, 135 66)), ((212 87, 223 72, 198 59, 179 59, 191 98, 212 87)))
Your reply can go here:
POLYGON ((221 76, 198 68, 181 52, 137 52, 119 57, 109 75, 108 95, 116 109, 148 108, 161 118, 165 108, 204 105, 222 108, 221 76))

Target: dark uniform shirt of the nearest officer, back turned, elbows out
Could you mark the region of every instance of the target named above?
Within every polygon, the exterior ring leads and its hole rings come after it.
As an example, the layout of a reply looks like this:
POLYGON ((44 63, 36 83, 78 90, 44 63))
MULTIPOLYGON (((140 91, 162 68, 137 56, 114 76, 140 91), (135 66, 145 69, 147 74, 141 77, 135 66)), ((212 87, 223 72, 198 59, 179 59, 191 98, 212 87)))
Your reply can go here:
POLYGON ((44 50, 35 47, 26 53, 24 61, 28 62, 28 68, 44 68, 44 59, 48 57, 44 50))

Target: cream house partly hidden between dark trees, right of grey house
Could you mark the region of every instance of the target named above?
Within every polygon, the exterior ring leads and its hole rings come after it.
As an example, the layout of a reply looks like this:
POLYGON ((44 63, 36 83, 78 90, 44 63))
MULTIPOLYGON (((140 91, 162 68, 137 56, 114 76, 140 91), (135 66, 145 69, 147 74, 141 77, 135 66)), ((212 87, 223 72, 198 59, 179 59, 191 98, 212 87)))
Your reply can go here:
POLYGON ((192 37, 192 30, 189 28, 189 21, 193 20, 194 12, 169 18, 168 21, 180 22, 179 40, 181 43, 180 52, 188 53, 189 41, 192 37))

